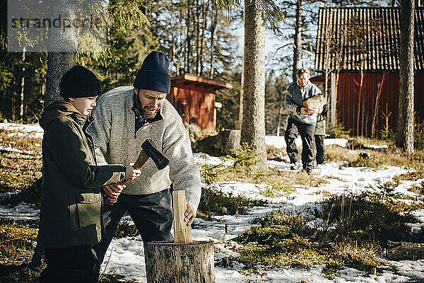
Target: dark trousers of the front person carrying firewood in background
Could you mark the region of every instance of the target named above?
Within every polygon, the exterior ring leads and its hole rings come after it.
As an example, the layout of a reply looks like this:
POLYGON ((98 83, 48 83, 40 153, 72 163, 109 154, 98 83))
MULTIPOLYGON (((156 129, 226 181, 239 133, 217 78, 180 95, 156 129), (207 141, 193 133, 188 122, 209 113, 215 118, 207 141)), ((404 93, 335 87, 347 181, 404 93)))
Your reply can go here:
POLYGON ((298 146, 295 144, 295 139, 300 134, 302 138, 303 168, 312 169, 314 167, 314 132, 315 125, 307 125, 292 118, 288 119, 284 137, 290 163, 297 163, 299 161, 299 151, 298 146))

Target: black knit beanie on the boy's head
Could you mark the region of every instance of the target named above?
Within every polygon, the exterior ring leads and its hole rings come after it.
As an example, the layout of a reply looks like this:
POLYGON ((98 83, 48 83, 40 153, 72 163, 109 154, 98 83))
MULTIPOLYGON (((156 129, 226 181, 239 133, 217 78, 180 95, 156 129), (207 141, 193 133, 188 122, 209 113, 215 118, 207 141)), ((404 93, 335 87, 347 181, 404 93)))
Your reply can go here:
POLYGON ((60 80, 59 88, 63 98, 93 97, 102 94, 102 86, 97 76, 83 66, 75 66, 66 71, 60 80))

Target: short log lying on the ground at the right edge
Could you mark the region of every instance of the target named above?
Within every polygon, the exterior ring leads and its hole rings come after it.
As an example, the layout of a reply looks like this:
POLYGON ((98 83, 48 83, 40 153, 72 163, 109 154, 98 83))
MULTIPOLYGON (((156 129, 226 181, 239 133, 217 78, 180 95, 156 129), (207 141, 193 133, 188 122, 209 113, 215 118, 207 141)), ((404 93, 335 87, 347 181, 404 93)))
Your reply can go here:
POLYGON ((389 260, 423 260, 424 243, 387 242, 389 260))

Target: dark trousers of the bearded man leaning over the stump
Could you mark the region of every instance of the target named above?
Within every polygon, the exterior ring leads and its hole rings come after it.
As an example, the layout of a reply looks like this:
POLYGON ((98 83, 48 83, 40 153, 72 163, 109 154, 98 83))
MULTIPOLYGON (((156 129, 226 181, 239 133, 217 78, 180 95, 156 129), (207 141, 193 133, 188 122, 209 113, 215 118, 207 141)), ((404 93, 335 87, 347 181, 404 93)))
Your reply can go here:
MULTIPOLYGON (((117 203, 105 205, 103 209, 103 223, 105 224, 106 238, 93 248, 98 253, 95 273, 99 275, 100 265, 105 258, 114 236, 119 220, 128 212, 139 231, 143 242, 170 241, 172 226, 172 207, 170 190, 155 192, 151 195, 125 195, 118 197, 117 203)), ((136 264, 136 263, 134 263, 136 264)))

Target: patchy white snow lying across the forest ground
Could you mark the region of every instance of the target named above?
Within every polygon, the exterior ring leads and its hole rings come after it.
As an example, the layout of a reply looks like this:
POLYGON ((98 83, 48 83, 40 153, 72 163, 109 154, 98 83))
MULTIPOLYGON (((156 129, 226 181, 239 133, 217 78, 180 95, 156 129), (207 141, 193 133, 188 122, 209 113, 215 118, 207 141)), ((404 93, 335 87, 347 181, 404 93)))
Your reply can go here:
MULTIPOLYGON (((18 126, 1 124, 0 127, 11 127, 17 129, 18 126)), ((27 129, 23 125, 22 132, 27 129)), ((33 126, 34 127, 34 126, 33 126)), ((35 131, 39 130, 34 127, 35 131)), ((16 130, 19 132, 19 130, 16 130)), ((33 134, 28 131, 27 134, 33 134)), ((273 144, 277 147, 283 146, 283 137, 267 137, 267 144, 273 144)), ((333 141, 332 144, 343 146, 343 141, 333 141)), ((346 144, 344 144, 346 146, 346 144)), ((200 164, 208 163, 217 165, 224 163, 224 166, 230 166, 231 161, 221 160, 220 158, 211 157, 207 154, 195 154, 196 162, 200 164)), ((237 252, 232 249, 232 246, 238 246, 237 243, 231 240, 240 234, 245 229, 249 228, 250 221, 258 216, 265 216, 275 209, 282 209, 285 212, 302 212, 307 219, 314 224, 321 224, 322 219, 315 219, 314 212, 321 209, 317 203, 323 200, 325 195, 338 194, 343 192, 360 192, 364 190, 378 190, 377 185, 384 184, 391 180, 394 176, 406 173, 407 169, 398 167, 383 167, 380 170, 374 171, 371 168, 346 168, 343 165, 345 162, 326 163, 321 168, 314 169, 313 173, 320 178, 328 181, 326 184, 318 187, 296 186, 294 192, 289 195, 269 198, 260 194, 267 185, 255 185, 252 183, 240 183, 228 180, 228 182, 218 183, 217 187, 223 192, 232 192, 233 195, 244 195, 252 199, 267 200, 269 204, 266 207, 253 207, 249 215, 236 216, 217 216, 216 221, 205 221, 196 219, 193 224, 193 238, 196 241, 213 240, 215 243, 215 258, 216 262, 230 255, 237 255, 237 252), (228 225, 228 233, 225 232, 225 224, 228 225)), ((288 161, 269 161, 269 166, 278 168, 279 170, 288 171, 290 166, 288 161)), ((395 192, 403 195, 413 195, 413 192, 408 191, 408 188, 413 185, 419 186, 423 180, 416 182, 404 181, 395 188, 395 192)), ((424 210, 413 212, 421 221, 424 221, 424 210)), ((0 218, 14 220, 37 219, 39 211, 31 209, 25 203, 20 203, 16 207, 0 206, 0 218)), ((130 221, 129 217, 122 219, 130 221)), ((423 226, 415 224, 411 229, 418 231, 423 226)), ((245 276, 238 272, 241 264, 235 264, 231 267, 215 267, 216 282, 288 282, 298 283, 304 280, 305 282, 422 282, 424 278, 424 260, 417 261, 401 261, 393 262, 399 267, 398 272, 392 272, 389 268, 384 270, 381 276, 367 275, 365 272, 360 272, 352 268, 344 268, 340 272, 340 277, 327 279, 322 274, 322 265, 315 265, 307 269, 298 269, 292 267, 278 267, 271 270, 264 270, 262 276, 253 275, 245 276)), ((144 264, 143 243, 141 238, 126 237, 114 239, 107 251, 105 262, 102 266, 104 272, 117 272, 125 276, 126 279, 134 279, 135 282, 146 282, 146 266, 144 264)))

